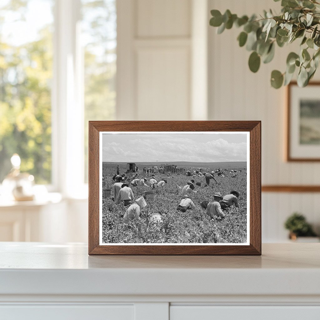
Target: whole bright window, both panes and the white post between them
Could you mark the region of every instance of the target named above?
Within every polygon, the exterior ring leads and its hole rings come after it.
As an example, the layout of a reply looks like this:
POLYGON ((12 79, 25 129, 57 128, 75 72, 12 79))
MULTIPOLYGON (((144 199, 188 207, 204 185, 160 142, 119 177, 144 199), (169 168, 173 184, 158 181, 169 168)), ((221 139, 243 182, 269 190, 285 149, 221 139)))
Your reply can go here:
POLYGON ((115 118, 115 83, 116 0, 2 0, 0 183, 18 153, 37 184, 83 197, 88 121, 115 118))

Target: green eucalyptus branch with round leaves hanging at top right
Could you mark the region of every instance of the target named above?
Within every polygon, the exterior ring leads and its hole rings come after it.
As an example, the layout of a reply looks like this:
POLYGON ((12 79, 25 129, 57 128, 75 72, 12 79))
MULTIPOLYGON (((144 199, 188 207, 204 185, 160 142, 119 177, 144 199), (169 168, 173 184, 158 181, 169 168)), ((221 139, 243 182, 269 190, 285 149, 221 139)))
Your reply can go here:
MULTIPOLYGON (((271 0, 270 0, 271 1, 271 0)), ((278 2, 280 0, 274 0, 278 2)), ((269 63, 275 56, 275 47, 283 47, 297 39, 300 52, 290 52, 284 72, 271 72, 271 85, 278 89, 292 80, 298 69, 297 82, 305 87, 313 77, 320 62, 320 0, 282 0, 281 13, 264 10, 260 16, 238 17, 226 10, 211 10, 210 25, 217 27, 218 34, 233 26, 242 28, 237 37, 240 47, 251 51, 249 68, 257 72, 261 61, 269 63)))

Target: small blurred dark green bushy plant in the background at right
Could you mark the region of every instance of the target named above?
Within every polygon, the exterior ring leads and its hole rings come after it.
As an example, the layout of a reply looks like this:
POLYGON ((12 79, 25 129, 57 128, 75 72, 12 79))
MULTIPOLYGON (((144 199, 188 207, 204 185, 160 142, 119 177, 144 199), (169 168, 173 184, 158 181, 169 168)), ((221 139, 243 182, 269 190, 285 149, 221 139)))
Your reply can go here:
MULTIPOLYGON (((310 223, 307 222, 306 218, 298 213, 294 212, 284 223, 284 227, 290 231, 289 238, 296 241, 298 237, 313 237, 312 242, 316 241, 316 233, 314 232, 310 223)), ((307 242, 306 240, 303 242, 307 242)))

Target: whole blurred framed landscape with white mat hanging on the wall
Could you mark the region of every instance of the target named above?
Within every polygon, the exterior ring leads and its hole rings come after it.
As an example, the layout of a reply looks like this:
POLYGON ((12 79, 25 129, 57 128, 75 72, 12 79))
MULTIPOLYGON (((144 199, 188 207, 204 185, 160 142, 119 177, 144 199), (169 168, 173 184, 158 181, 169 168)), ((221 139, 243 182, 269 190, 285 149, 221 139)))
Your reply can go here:
POLYGON ((287 161, 320 161, 320 82, 287 90, 287 161))

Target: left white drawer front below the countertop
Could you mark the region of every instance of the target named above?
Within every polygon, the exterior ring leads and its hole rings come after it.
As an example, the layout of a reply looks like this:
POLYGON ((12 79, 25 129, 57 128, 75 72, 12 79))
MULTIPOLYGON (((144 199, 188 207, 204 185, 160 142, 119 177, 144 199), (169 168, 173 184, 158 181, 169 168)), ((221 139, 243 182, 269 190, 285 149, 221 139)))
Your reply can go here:
POLYGON ((5 320, 133 320, 133 305, 1 305, 5 320))

